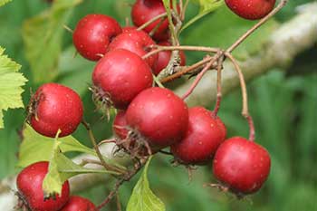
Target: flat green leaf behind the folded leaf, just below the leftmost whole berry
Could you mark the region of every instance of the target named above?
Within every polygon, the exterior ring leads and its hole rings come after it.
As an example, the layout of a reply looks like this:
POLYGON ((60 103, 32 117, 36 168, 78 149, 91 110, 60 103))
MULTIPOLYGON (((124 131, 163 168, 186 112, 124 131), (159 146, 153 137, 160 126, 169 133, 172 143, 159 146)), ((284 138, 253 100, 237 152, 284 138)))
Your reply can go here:
MULTIPOLYGON (((28 124, 24 127, 23 136, 24 140, 20 146, 18 167, 24 168, 34 162, 51 159, 54 139, 42 136, 28 124)), ((97 157, 94 150, 82 145, 81 142, 72 136, 59 138, 59 141, 61 142, 59 149, 61 149, 62 153, 77 151, 97 157)), ((104 159, 111 165, 125 169, 110 158, 104 159)))

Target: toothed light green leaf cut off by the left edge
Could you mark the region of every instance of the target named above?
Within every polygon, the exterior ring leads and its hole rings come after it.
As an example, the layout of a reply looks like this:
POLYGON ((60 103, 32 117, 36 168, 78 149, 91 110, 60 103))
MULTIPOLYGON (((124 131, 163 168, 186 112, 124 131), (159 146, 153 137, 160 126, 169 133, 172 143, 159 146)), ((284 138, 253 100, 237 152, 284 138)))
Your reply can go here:
POLYGON ((4 128, 3 110, 23 108, 21 94, 27 80, 18 72, 21 65, 12 61, 0 47, 0 129, 4 128))

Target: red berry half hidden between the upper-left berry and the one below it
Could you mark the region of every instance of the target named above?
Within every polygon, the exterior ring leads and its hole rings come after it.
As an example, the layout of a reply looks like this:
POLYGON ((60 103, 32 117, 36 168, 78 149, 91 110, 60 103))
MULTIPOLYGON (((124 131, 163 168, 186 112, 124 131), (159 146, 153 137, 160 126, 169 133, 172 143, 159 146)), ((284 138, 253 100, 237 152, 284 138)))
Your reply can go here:
MULTIPOLYGON (((149 47, 155 44, 149 34, 143 31, 133 30, 132 28, 126 29, 125 31, 126 33, 119 34, 113 39, 109 45, 109 51, 113 51, 114 49, 126 49, 142 57, 149 53, 149 47)), ((153 67, 157 59, 158 55, 155 54, 146 59, 146 61, 150 67, 153 67)))

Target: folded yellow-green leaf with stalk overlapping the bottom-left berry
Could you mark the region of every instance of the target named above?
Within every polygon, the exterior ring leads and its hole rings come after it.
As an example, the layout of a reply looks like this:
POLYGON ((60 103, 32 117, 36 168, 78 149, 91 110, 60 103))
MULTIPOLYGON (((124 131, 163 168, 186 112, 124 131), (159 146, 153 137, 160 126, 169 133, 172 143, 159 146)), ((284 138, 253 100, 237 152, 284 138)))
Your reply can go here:
POLYGON ((62 141, 59 139, 54 140, 49 170, 43 179, 44 196, 49 197, 54 194, 61 194, 62 184, 70 177, 76 175, 86 173, 117 174, 107 170, 82 168, 62 154, 61 145, 62 141))

